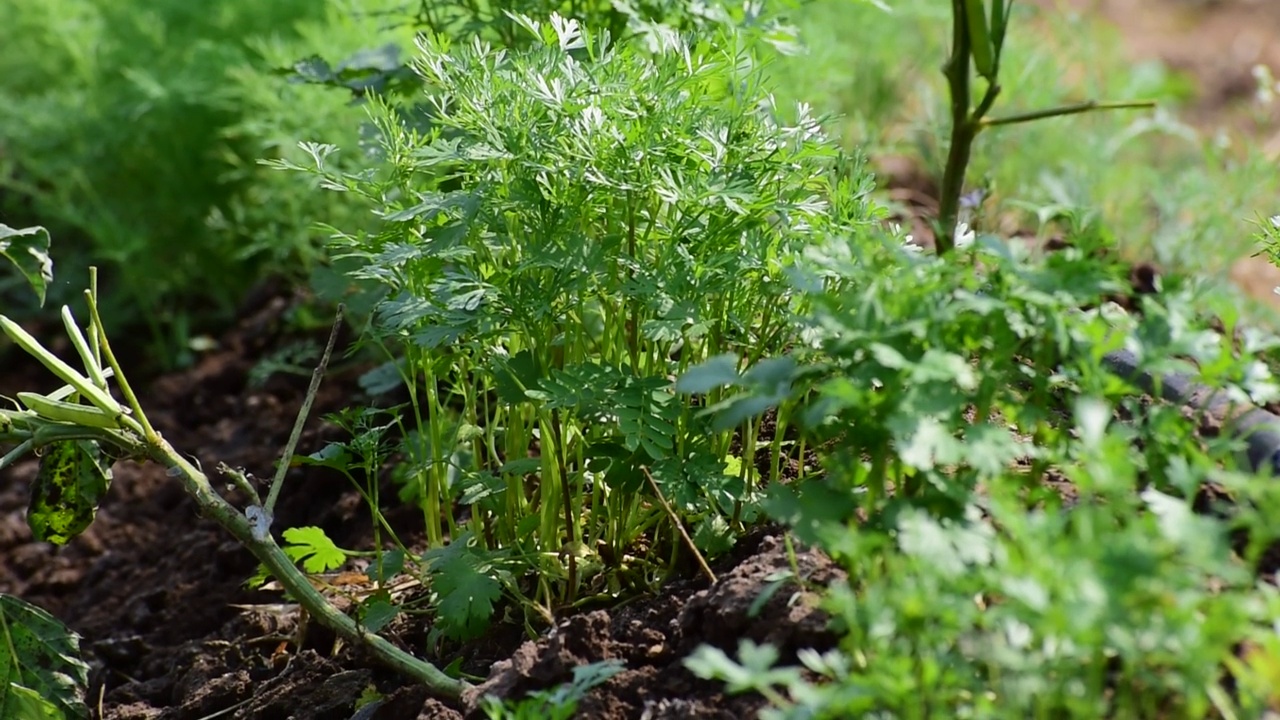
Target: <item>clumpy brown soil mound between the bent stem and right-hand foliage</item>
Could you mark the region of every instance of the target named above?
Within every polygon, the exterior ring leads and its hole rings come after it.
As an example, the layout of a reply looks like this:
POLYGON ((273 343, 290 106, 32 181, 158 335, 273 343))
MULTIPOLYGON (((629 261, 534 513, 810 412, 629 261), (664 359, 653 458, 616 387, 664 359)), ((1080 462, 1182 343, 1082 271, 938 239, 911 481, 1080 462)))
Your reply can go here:
MULTIPOLYGON (((800 552, 796 562, 806 583, 826 585, 841 578, 817 552, 800 552)), ((817 594, 781 579, 790 570, 781 538, 765 536, 712 587, 673 583, 645 602, 568 618, 498 662, 489 679, 463 698, 467 717, 483 716, 475 710, 483 694, 520 698, 568 682, 575 667, 602 660, 621 660, 626 670, 582 701, 582 717, 753 717, 762 698, 723 697, 718 683, 694 678, 682 660, 703 643, 732 653, 744 638, 771 643, 783 657, 805 647, 833 647, 827 616, 814 606, 817 594)))

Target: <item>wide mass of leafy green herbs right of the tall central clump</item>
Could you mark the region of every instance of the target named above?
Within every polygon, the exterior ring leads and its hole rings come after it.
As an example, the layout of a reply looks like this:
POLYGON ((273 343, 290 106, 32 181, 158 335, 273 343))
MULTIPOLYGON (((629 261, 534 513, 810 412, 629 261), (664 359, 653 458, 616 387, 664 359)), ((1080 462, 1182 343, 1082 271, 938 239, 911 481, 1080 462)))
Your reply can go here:
POLYGON ((963 240, 977 263, 893 241, 815 246, 796 273, 809 343, 768 361, 767 383, 719 377, 740 389, 718 413, 803 400, 797 425, 827 473, 773 488, 767 509, 851 580, 826 603, 844 639, 800 655, 809 675, 754 646, 737 660, 705 648, 690 667, 764 693, 774 717, 1261 711, 1280 605, 1231 532, 1275 507, 1270 483, 1239 469, 1238 441, 1199 436, 1103 355, 1128 347, 1152 373, 1248 401, 1276 391, 1260 359, 1274 345, 1252 333, 1233 347, 1210 320, 1236 315, 1194 283, 1169 279, 1130 315, 1107 304, 1121 268, 1087 250, 1034 260, 963 240), (815 282, 827 274, 840 282, 815 282), (1258 507, 1198 515, 1210 483, 1258 507), (1252 664, 1240 647, 1258 648, 1252 664))

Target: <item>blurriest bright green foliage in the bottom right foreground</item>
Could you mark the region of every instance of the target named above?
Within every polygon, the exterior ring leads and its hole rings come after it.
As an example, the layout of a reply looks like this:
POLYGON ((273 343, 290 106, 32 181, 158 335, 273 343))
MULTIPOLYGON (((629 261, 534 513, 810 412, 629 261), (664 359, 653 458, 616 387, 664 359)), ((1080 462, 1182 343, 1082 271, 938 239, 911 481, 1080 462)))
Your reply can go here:
POLYGON ((1274 588, 1184 501, 1134 500, 1028 514, 1002 497, 965 520, 904 512, 896 539, 849 530, 841 548, 863 555, 844 564, 860 575, 826 603, 838 648, 792 666, 767 646, 736 660, 704 647, 686 665, 764 694, 776 719, 1260 716, 1272 691, 1248 671, 1235 692, 1221 678, 1236 643, 1274 637, 1274 588))

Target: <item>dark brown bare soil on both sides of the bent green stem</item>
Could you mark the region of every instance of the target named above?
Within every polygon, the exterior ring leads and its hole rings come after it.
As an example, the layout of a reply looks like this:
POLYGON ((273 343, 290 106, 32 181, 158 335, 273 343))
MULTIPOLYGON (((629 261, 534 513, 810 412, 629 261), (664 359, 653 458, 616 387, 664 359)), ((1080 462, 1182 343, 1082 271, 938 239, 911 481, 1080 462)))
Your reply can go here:
MULTIPOLYGON (((216 351, 142 389, 140 398, 157 430, 205 468, 221 461, 270 475, 307 378, 274 375, 262 387, 248 378, 257 357, 291 340, 279 329, 291 302, 282 293, 255 302, 216 351)), ((300 452, 344 439, 317 418, 357 397, 358 370, 333 373, 321 384, 300 452)), ((5 377, 0 393, 47 380, 41 368, 24 364, 5 377)), ((84 534, 61 548, 33 542, 24 511, 36 469, 35 459, 23 460, 0 486, 0 592, 46 609, 83 635, 95 716, 100 706, 101 717, 111 720, 214 714, 347 720, 370 685, 385 698, 370 720, 483 716, 475 696, 444 703, 360 650, 343 646, 334 652, 333 634, 314 623, 301 651, 291 644, 279 652, 296 628, 296 606, 273 605, 280 602, 278 593, 244 587, 256 568, 252 555, 200 518, 178 482, 157 465, 118 462, 110 493, 84 534)), ((229 497, 244 506, 237 493, 229 497)), ((291 470, 278 507, 278 529, 319 525, 343 547, 371 542, 360 496, 330 470, 291 470)), ((421 539, 415 538, 421 532, 413 527, 415 515, 390 512, 411 547, 421 539)), ((797 560, 819 585, 838 575, 815 552, 800 552, 797 560)), ((465 673, 489 678, 481 691, 518 700, 568 682, 575 666, 621 660, 625 670, 580 703, 580 716, 750 717, 763 707, 760 697, 726 697, 719 683, 699 680, 681 661, 701 643, 733 652, 741 638, 771 642, 785 660, 803 647, 832 647, 836 638, 826 619, 795 585, 753 612, 771 575, 790 568, 781 530, 756 530, 714 565, 714 588, 690 575, 654 596, 561 618, 536 642, 495 623, 486 637, 438 661, 461 659, 465 673)), ((426 634, 421 625, 393 625, 390 635, 416 652, 426 634)))

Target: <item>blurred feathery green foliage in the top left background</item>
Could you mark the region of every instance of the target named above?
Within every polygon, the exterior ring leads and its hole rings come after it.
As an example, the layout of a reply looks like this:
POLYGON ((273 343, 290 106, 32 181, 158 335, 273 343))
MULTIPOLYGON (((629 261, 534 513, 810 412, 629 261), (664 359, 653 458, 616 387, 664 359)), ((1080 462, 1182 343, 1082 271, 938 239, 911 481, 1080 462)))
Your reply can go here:
MULTIPOLYGON (((360 110, 266 70, 282 51, 367 42, 389 5, 0 1, 0 213, 50 227, 73 274, 102 265, 106 320, 143 331, 147 360, 189 361, 189 337, 233 313, 261 273, 315 268, 314 223, 353 218, 256 161, 296 151, 298 137, 355 138, 360 110)), ((351 167, 366 165, 352 155, 351 167)), ((69 286, 50 292, 76 300, 69 286)), ((26 305, 5 301, 10 314, 26 305)))

